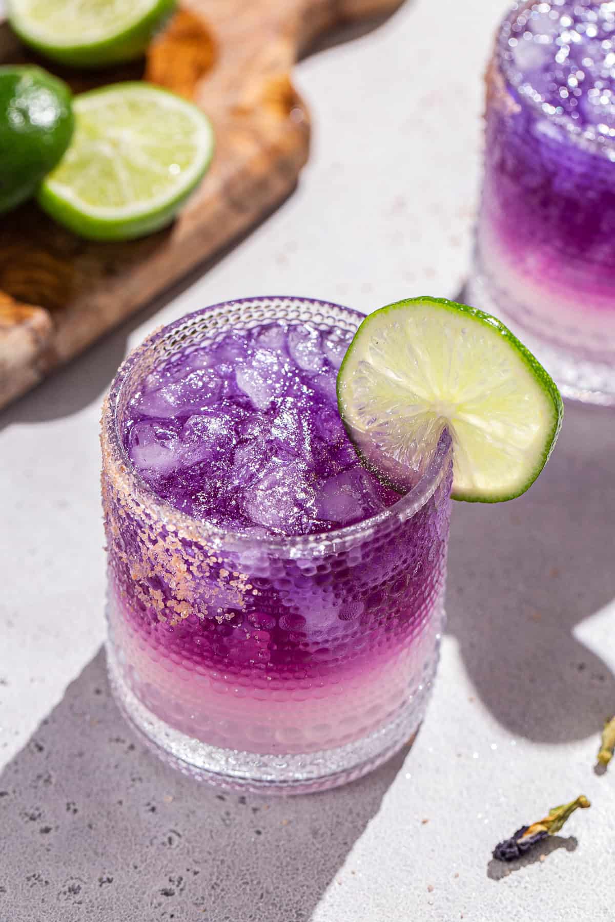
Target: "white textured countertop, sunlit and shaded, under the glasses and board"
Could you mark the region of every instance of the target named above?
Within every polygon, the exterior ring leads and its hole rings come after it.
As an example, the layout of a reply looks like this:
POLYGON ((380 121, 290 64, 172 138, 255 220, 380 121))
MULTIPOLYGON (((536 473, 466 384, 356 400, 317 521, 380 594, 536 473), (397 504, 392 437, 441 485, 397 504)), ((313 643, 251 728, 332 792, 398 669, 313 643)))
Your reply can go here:
POLYGON ((98 426, 125 352, 154 325, 233 297, 366 312, 455 297, 481 74, 505 6, 408 0, 303 61, 313 155, 294 195, 0 415, 0 922, 613 918, 615 768, 593 772, 615 711, 612 412, 568 407, 520 500, 455 505, 427 719, 411 751, 361 782, 286 801, 195 786, 131 743, 97 656, 98 426), (592 809, 544 860, 490 862, 497 841, 582 792, 592 809))

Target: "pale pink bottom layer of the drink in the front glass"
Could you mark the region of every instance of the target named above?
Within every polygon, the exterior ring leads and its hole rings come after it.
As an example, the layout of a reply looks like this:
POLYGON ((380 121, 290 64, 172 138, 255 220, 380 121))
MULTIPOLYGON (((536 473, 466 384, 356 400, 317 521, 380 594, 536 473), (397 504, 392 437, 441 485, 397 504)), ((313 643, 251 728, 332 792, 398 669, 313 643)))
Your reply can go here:
MULTIPOLYGON (((142 632, 135 621, 126 623, 112 613, 111 623, 113 643, 129 662, 126 678, 132 690, 169 727, 222 749, 295 754, 361 739, 392 721, 408 699, 420 697, 435 668, 444 618, 441 600, 423 617, 424 623, 415 625, 414 643, 411 634, 395 644, 392 638, 387 642, 385 636, 368 635, 360 656, 350 651, 344 656, 352 640, 342 640, 341 631, 293 632, 294 643, 311 662, 308 666, 304 660, 302 669, 292 670, 271 659, 263 668, 276 633, 246 630, 241 644, 245 659, 238 654, 212 668, 185 651, 170 654, 167 644, 152 643, 151 632, 142 632), (319 643, 329 644, 328 649, 319 643)), ((236 634, 237 625, 233 629, 236 634)))

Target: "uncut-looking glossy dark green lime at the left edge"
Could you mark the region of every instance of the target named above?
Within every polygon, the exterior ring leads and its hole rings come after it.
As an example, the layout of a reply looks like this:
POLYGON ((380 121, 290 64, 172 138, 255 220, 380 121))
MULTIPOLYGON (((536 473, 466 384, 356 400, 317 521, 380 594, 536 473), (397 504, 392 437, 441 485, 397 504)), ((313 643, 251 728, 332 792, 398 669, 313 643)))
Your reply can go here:
POLYGON ((0 214, 36 191, 73 136, 72 94, 41 67, 0 67, 0 214))

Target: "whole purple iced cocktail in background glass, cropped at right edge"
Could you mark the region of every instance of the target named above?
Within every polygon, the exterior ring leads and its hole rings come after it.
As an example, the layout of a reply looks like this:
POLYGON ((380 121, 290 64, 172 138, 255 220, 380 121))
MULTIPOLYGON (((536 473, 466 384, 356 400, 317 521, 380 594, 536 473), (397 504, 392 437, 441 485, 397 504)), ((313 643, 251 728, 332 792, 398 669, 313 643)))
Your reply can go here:
POLYGON ((564 394, 615 400, 615 4, 517 3, 487 75, 471 300, 564 394))

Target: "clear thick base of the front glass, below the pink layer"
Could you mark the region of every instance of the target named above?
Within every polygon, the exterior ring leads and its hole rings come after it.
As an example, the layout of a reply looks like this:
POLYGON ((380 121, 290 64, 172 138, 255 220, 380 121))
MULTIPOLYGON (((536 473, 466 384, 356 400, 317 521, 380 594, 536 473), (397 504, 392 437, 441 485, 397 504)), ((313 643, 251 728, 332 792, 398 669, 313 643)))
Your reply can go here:
POLYGON ((414 697, 384 727, 345 746, 298 755, 270 755, 221 749, 189 737, 152 714, 124 680, 107 644, 107 666, 114 697, 149 749, 198 781, 261 794, 306 794, 344 785, 371 772, 417 734, 432 690, 438 654, 426 666, 414 697))

